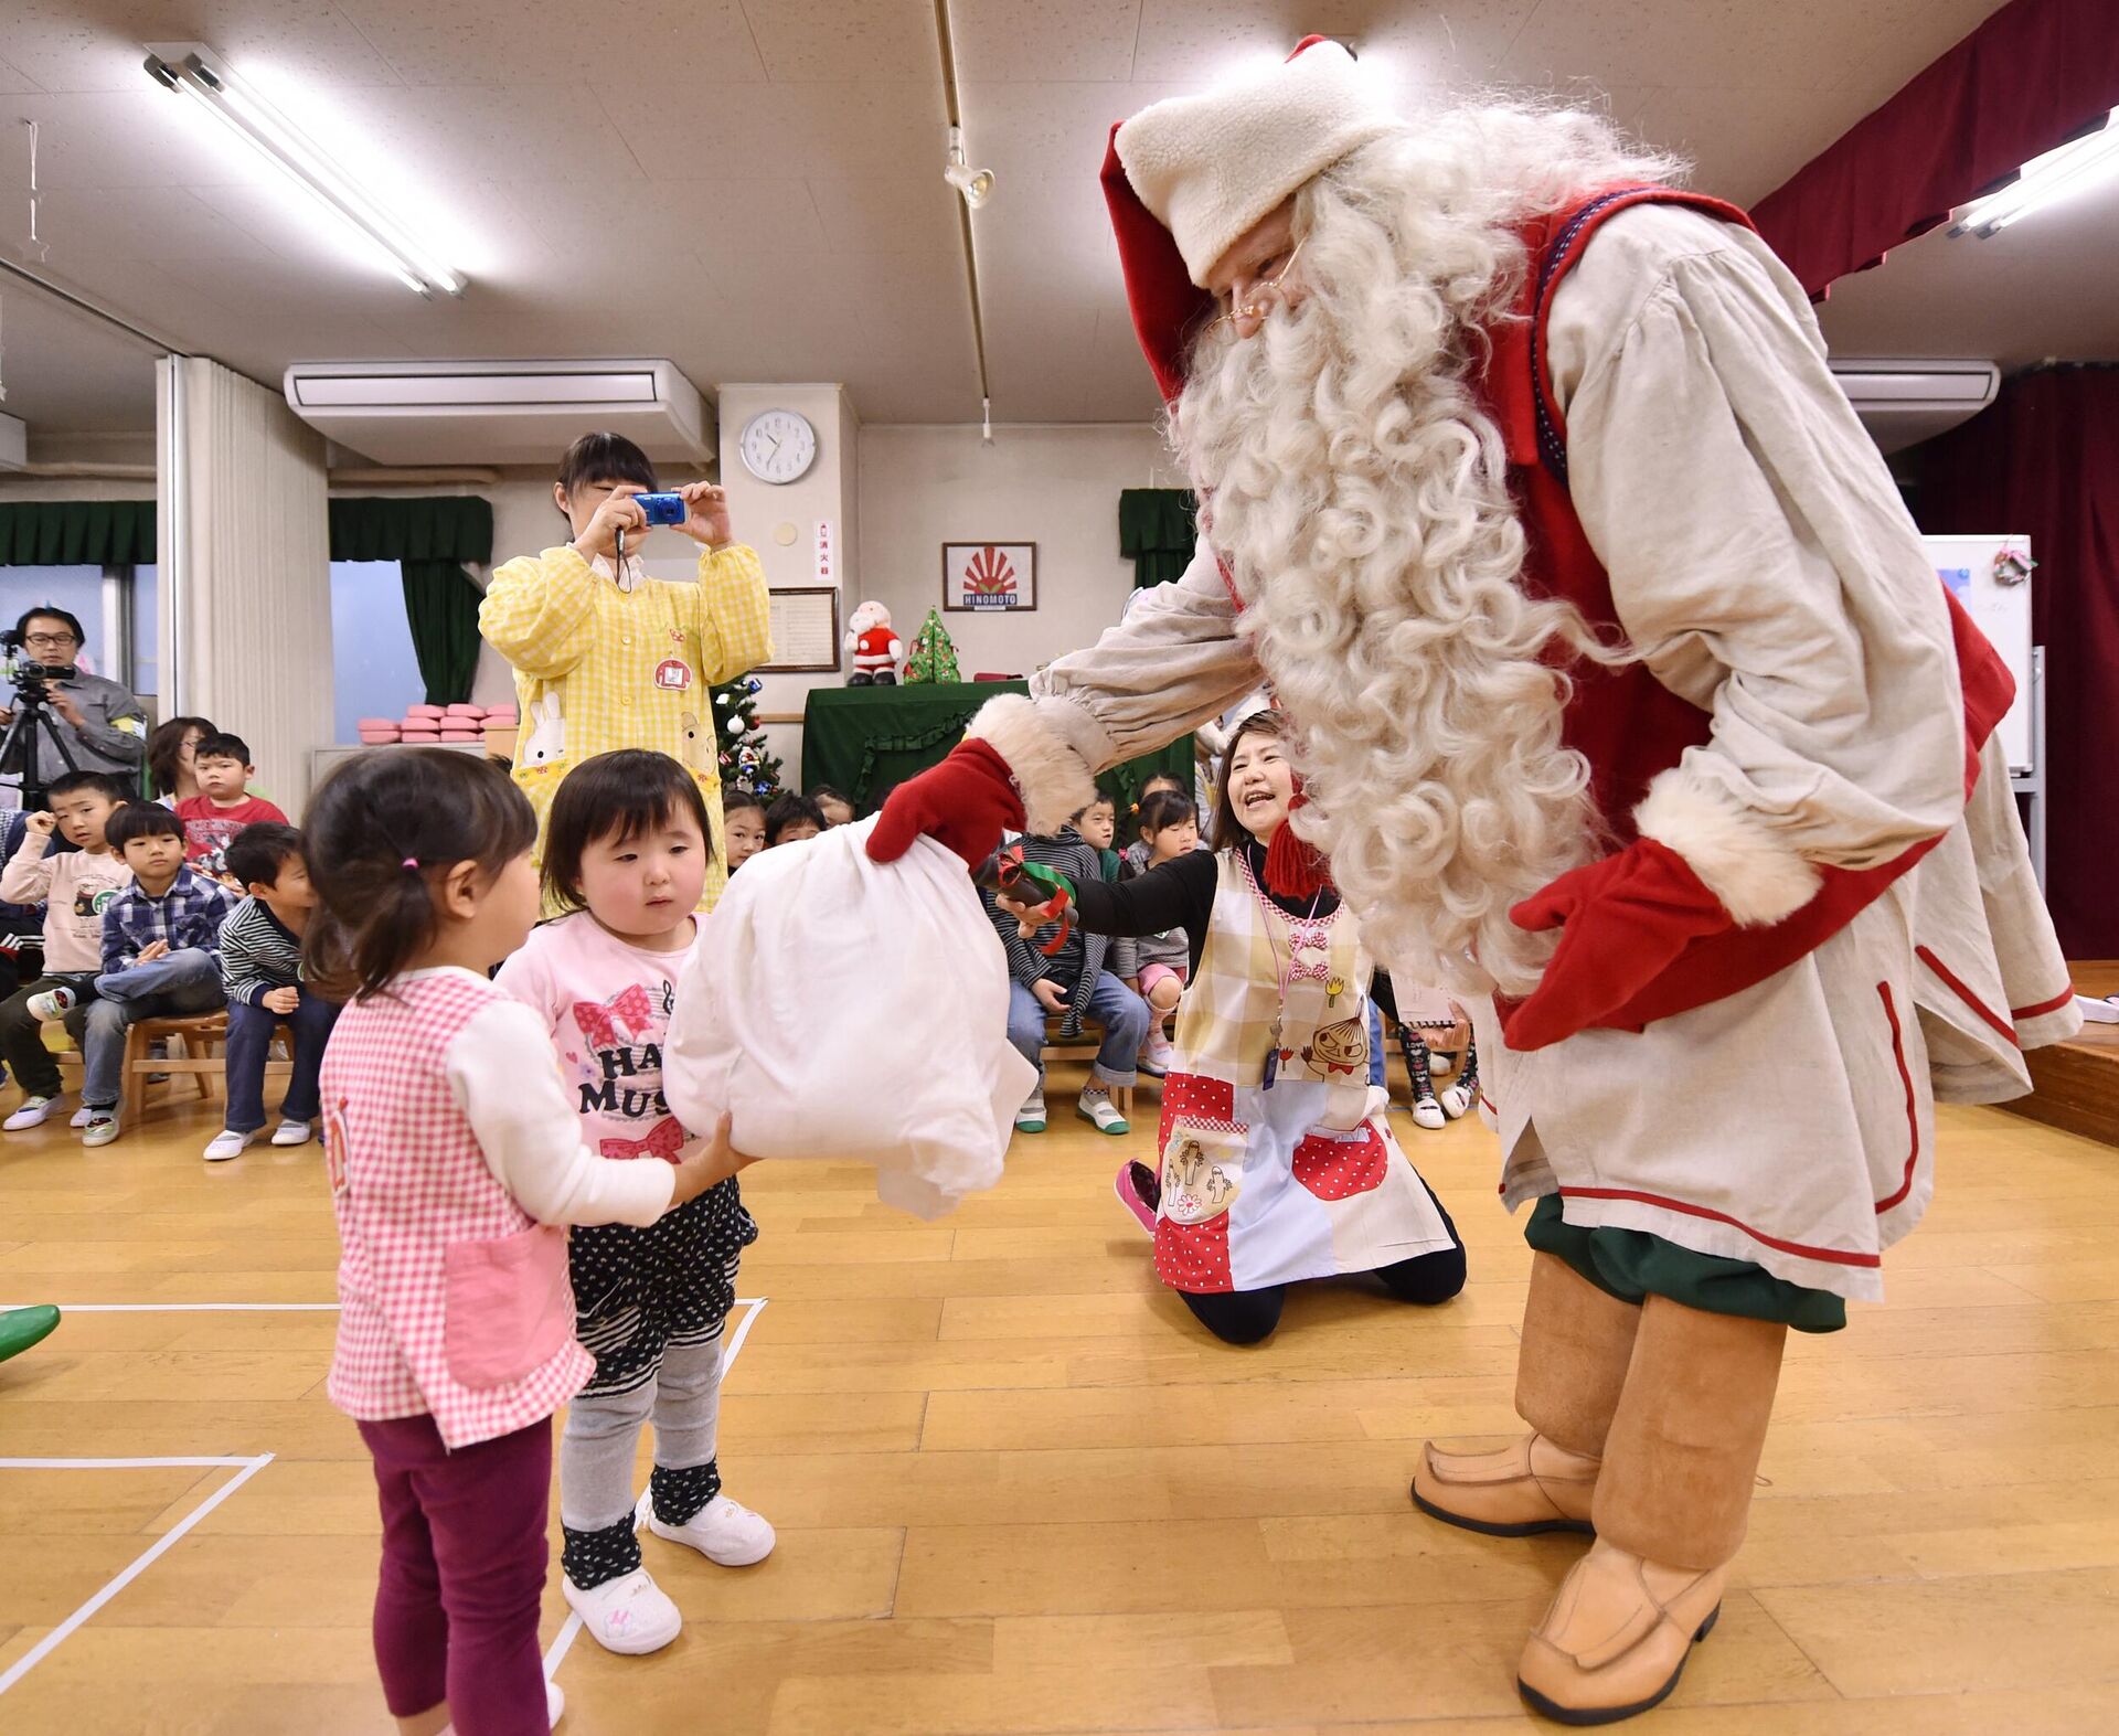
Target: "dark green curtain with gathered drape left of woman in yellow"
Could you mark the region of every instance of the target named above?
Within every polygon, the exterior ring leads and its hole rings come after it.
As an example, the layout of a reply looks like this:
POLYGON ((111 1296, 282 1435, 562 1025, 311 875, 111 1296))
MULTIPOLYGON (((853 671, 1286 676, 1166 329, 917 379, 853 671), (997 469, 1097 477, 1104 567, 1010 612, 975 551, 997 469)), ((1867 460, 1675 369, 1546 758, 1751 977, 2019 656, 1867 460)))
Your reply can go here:
POLYGON ((479 587, 464 562, 494 557, 494 504, 475 494, 331 502, 333 560, 394 560, 430 706, 460 706, 479 668, 479 587))

